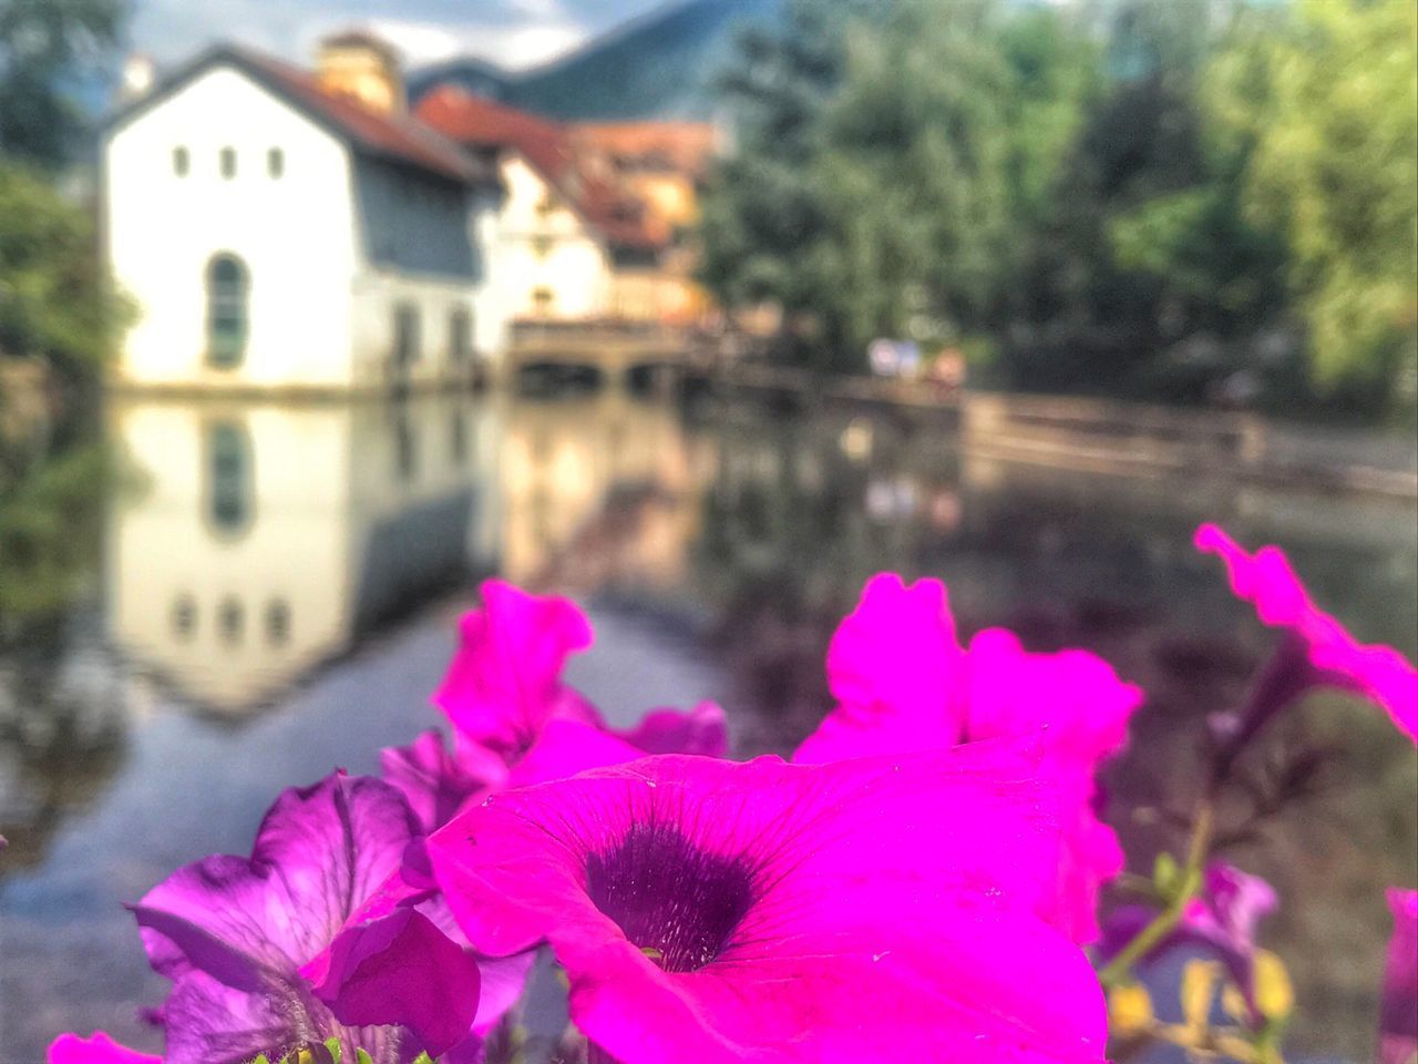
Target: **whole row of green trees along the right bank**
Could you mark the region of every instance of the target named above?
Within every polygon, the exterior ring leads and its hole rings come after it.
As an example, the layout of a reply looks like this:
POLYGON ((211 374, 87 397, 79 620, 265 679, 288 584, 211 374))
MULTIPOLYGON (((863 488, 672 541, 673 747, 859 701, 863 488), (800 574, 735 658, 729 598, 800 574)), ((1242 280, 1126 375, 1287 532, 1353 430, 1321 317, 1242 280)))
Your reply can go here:
POLYGON ((821 366, 986 335, 1027 389, 1378 397, 1415 350, 1415 11, 798 0, 730 78, 702 279, 821 366))

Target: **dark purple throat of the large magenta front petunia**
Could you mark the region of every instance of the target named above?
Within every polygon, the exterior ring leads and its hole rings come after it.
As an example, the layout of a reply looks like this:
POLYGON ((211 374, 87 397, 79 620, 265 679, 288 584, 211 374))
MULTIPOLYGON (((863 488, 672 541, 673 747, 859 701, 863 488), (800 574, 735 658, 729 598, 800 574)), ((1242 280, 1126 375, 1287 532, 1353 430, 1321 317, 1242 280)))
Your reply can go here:
POLYGON ((586 891, 666 972, 713 960, 753 904, 753 868, 709 854, 678 829, 635 824, 586 861, 586 891))

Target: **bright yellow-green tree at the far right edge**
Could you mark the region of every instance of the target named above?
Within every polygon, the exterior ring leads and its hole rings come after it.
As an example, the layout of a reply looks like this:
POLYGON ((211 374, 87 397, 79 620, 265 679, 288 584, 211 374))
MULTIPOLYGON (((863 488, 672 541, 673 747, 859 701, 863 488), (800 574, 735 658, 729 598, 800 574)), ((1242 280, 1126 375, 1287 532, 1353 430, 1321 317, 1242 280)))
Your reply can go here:
POLYGON ((1316 383, 1383 392, 1418 366, 1418 6, 1302 0, 1296 18, 1265 51, 1246 206, 1285 234, 1316 383))

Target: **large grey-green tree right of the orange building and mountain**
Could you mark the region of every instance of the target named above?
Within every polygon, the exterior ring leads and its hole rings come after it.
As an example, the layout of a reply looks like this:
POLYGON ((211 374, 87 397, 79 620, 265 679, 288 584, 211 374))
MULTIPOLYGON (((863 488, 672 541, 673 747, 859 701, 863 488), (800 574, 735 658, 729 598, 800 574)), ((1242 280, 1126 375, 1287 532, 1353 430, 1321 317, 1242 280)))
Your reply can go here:
POLYGON ((815 365, 873 336, 998 329, 1048 210, 1096 50, 1055 11, 800 3, 746 41, 739 143, 703 200, 700 277, 773 302, 815 365))

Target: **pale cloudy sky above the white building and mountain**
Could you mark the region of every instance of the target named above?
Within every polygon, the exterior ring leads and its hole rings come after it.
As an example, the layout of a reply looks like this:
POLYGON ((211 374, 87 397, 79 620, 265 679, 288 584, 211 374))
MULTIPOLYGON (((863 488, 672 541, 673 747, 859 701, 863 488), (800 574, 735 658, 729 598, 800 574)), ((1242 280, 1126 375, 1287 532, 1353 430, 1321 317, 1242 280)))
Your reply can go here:
POLYGON ((138 0, 133 51, 159 65, 234 40, 309 64, 328 33, 362 27, 407 67, 472 54, 516 70, 554 58, 664 0, 138 0))

